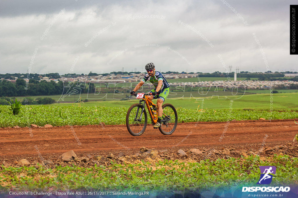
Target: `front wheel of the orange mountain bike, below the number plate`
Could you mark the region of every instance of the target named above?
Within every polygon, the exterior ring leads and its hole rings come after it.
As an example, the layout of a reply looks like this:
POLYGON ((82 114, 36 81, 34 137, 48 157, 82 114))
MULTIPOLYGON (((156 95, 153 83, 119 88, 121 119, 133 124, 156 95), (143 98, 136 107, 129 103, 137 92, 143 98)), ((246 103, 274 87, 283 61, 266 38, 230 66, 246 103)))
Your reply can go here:
POLYGON ((133 104, 126 114, 126 128, 133 136, 140 136, 144 133, 147 126, 147 112, 141 104, 133 104), (142 113, 142 114, 141 114, 142 113))

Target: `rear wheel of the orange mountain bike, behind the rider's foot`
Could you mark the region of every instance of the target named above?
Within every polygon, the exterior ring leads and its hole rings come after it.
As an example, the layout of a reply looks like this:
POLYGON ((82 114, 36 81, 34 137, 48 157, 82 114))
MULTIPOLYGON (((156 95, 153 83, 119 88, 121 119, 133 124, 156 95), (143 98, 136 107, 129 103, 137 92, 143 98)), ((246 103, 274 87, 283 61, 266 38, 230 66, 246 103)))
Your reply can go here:
POLYGON ((178 115, 175 107, 172 104, 164 104, 162 106, 163 113, 162 115, 161 126, 158 128, 159 131, 164 135, 172 134, 178 123, 178 115))

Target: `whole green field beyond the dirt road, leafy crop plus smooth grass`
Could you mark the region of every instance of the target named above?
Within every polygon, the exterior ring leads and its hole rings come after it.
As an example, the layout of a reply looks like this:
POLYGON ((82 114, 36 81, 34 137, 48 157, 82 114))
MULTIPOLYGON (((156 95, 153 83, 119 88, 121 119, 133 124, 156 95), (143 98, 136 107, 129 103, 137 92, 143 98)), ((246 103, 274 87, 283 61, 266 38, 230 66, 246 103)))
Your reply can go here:
MULTIPOLYGON (((270 94, 233 96, 230 99, 207 97, 196 99, 168 99, 178 112, 179 122, 294 119, 298 117, 297 93, 274 94, 271 105, 270 94), (200 111, 203 109, 204 111, 200 111), (229 109, 232 114, 229 115, 229 109), (281 112, 280 112, 281 111, 281 112)), ((43 126, 51 124, 88 125, 125 124, 126 112, 138 100, 100 101, 88 103, 63 103, 53 105, 25 105, 19 115, 12 115, 9 106, 1 106, 0 127, 28 126, 28 123, 43 126), (60 115, 61 112, 61 115, 60 115), (116 113, 117 112, 117 113, 116 113)))

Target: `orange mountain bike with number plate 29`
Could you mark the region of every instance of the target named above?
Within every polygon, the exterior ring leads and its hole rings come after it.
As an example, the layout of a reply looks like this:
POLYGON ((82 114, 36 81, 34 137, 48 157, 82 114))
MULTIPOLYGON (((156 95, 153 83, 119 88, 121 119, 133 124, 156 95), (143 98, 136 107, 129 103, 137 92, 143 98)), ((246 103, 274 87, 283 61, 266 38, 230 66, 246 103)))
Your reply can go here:
MULTIPOLYGON (((134 94, 134 96, 139 99, 139 103, 131 105, 126 114, 126 128, 133 136, 142 135, 147 127, 148 117, 145 105, 147 106, 152 125, 157 122, 157 105, 147 97, 150 94, 145 93, 146 92, 134 94), (153 112, 156 112, 156 115, 153 112)), ((162 110, 161 126, 158 129, 162 134, 170 135, 177 127, 177 111, 175 107, 169 103, 162 105, 162 110)))

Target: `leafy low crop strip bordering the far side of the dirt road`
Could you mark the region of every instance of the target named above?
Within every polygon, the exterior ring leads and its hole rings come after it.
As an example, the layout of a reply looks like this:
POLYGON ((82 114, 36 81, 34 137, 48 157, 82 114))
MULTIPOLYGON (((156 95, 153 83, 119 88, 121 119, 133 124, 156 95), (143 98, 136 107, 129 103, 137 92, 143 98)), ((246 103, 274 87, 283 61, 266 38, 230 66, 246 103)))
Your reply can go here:
MULTIPOLYGON (((121 101, 124 103, 123 101, 121 101)), ((131 101, 129 101, 131 102, 131 101)), ((229 102, 229 100, 225 100, 229 102)), ((126 103, 126 101, 125 101, 126 103)), ((232 107, 236 108, 236 102, 232 107)), ((197 121, 226 121, 226 120, 258 120, 260 117, 266 120, 275 119, 295 119, 298 117, 298 110, 253 110, 253 109, 233 109, 229 112, 229 103, 226 109, 205 109, 197 106, 196 109, 185 109, 177 107, 178 122, 197 122, 197 121), (201 110, 202 109, 202 110, 201 110)), ((25 127, 30 124, 44 126, 64 125, 94 125, 104 122, 107 125, 125 124, 127 107, 100 107, 100 106, 83 106, 83 103, 77 103, 73 106, 60 105, 26 105, 21 109, 18 115, 11 115, 8 106, 2 106, 2 117, 0 117, 0 127, 21 126, 25 127), (62 117, 63 115, 63 117, 62 117)), ((149 116, 149 115, 148 115, 149 116)), ((150 119, 149 119, 150 120, 150 119)))

